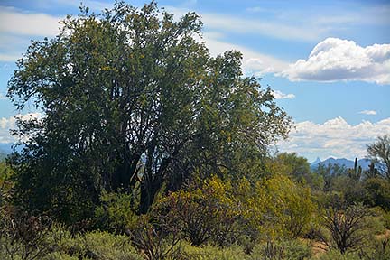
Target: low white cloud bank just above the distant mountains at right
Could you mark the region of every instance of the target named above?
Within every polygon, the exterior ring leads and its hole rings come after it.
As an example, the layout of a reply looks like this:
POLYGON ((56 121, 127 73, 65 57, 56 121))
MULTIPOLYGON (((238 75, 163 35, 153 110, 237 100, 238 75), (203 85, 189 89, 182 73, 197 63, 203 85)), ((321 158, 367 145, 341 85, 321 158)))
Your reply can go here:
POLYGON ((363 121, 350 125, 344 118, 336 117, 323 124, 311 121, 297 123, 287 141, 278 146, 282 152, 296 152, 309 160, 317 157, 363 158, 367 155, 367 144, 378 135, 390 133, 390 117, 376 123, 363 121))

